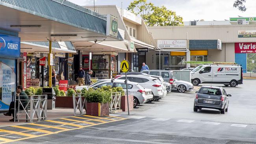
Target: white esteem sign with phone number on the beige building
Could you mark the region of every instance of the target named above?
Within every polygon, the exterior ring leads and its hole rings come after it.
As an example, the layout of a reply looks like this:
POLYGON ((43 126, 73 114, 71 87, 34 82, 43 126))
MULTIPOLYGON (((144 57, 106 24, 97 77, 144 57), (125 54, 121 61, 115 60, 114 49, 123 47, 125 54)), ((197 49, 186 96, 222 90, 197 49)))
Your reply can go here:
POLYGON ((158 48, 187 48, 186 40, 158 40, 158 48))

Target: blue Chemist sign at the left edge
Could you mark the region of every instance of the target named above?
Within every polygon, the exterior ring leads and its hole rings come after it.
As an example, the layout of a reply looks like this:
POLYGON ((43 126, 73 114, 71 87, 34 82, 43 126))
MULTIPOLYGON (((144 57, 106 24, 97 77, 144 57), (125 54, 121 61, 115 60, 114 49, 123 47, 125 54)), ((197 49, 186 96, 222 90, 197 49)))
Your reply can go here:
POLYGON ((20 38, 0 34, 0 55, 20 57, 20 38))

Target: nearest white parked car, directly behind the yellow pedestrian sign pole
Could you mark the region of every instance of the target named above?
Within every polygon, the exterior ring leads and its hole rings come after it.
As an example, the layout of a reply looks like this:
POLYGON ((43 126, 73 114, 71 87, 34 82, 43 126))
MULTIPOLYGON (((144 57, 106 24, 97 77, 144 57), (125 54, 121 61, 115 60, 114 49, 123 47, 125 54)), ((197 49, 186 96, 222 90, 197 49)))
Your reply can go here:
MULTIPOLYGON (((134 95, 134 107, 137 107, 139 104, 143 104, 147 101, 150 101, 153 98, 151 89, 144 89, 139 85, 139 83, 134 83, 131 81, 127 82, 128 85, 128 94, 134 95)), ((122 87, 126 94, 126 84, 122 79, 102 79, 89 86, 89 88, 97 89, 102 86, 111 86, 111 87, 122 87)))

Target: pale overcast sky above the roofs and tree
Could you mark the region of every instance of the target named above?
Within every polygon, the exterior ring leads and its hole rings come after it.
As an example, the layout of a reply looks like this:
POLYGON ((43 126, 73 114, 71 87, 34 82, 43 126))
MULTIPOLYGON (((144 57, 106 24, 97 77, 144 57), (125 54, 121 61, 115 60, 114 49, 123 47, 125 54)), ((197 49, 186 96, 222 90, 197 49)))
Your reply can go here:
MULTIPOLYGON (((80 6, 92 6, 93 0, 69 0, 80 6)), ((95 0, 95 5, 117 5, 126 9, 133 0, 95 0)), ((241 12, 233 7, 235 0, 148 0, 156 6, 166 6, 177 15, 189 20, 224 20, 229 17, 256 17, 256 0, 247 0, 247 11, 241 12)))

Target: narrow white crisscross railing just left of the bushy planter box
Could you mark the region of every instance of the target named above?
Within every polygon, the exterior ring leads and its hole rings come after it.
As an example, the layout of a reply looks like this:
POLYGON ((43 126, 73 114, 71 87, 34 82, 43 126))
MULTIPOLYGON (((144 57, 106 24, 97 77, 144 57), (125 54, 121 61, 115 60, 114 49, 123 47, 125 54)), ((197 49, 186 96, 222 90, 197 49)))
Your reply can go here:
POLYGON ((82 95, 83 95, 83 93, 73 94, 74 116, 76 116, 77 113, 80 113, 80 115, 82 115, 83 114, 83 108, 86 109, 86 99, 85 98, 82 99, 83 98, 82 95))

